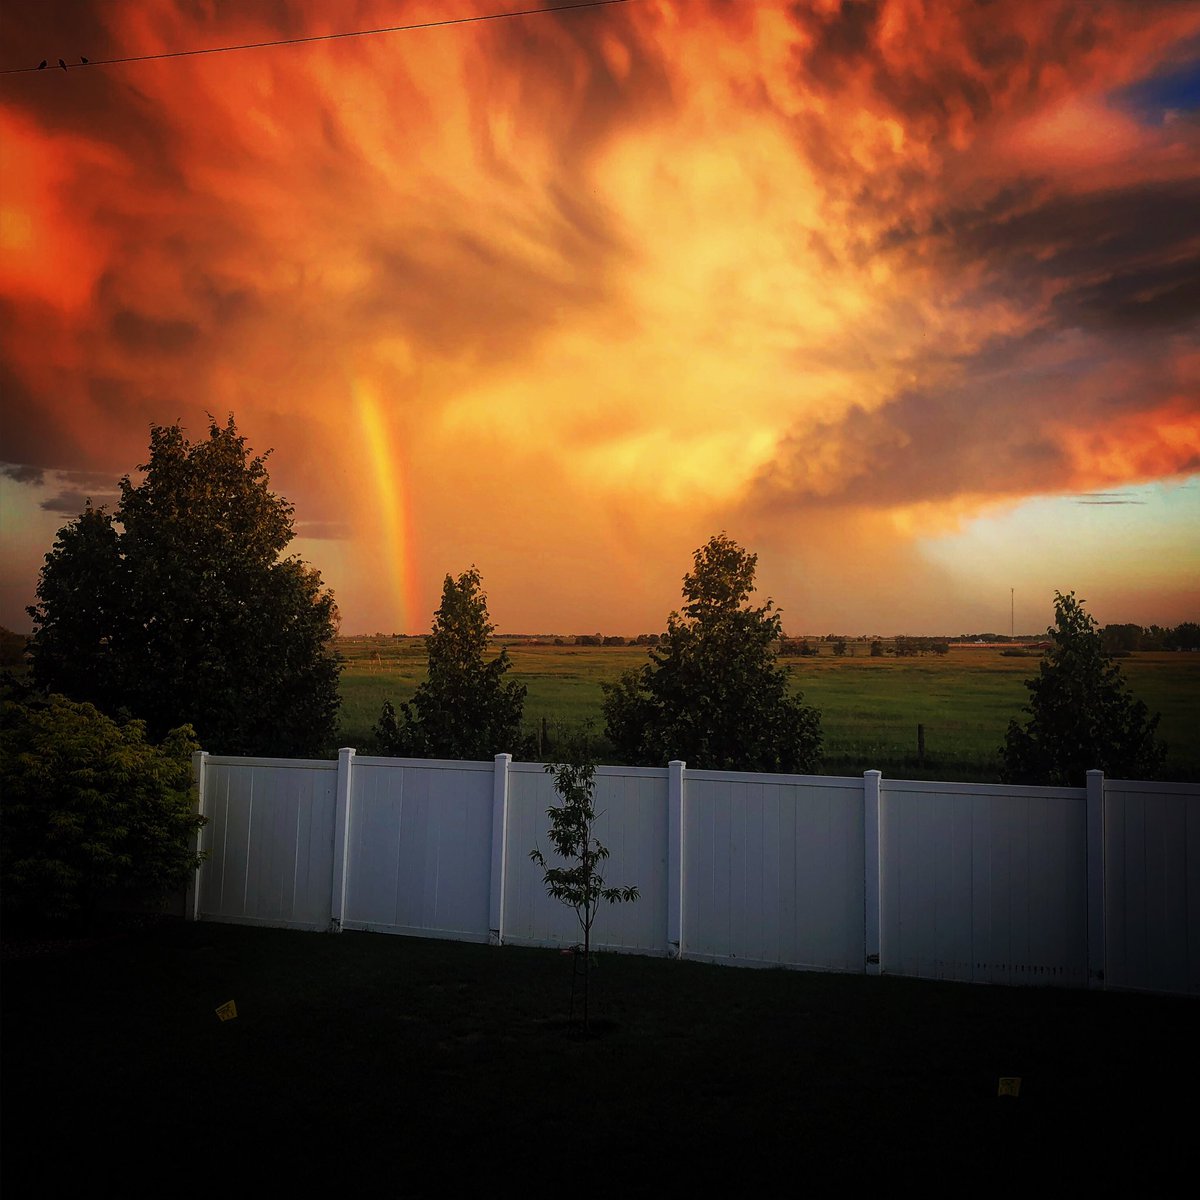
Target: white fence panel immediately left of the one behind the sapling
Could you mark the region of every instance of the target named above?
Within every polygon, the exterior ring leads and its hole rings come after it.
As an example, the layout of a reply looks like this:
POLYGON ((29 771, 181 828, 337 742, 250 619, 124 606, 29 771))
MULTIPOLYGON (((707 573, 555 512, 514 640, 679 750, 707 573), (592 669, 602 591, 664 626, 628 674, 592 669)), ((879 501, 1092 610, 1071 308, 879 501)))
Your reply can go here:
POLYGON ((492 763, 355 758, 348 929, 487 940, 492 763))

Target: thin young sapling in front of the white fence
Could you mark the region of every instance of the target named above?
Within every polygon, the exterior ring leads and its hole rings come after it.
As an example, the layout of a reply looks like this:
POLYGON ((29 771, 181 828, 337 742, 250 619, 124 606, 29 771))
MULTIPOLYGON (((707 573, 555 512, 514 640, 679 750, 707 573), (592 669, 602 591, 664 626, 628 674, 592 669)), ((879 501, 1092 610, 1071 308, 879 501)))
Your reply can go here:
MULTIPOLYGON (((550 842, 565 865, 551 866, 539 847, 529 857, 545 872, 546 894, 575 910, 583 932, 582 948, 575 947, 575 965, 583 961, 583 1032, 590 1031, 589 983, 592 973, 592 925, 601 904, 626 904, 638 898, 636 887, 605 887, 599 864, 608 851, 593 834, 595 811, 595 761, 583 744, 572 748, 571 761, 546 763, 560 803, 546 810, 550 842)), ((575 1015, 575 977, 571 979, 571 1018, 575 1015)))

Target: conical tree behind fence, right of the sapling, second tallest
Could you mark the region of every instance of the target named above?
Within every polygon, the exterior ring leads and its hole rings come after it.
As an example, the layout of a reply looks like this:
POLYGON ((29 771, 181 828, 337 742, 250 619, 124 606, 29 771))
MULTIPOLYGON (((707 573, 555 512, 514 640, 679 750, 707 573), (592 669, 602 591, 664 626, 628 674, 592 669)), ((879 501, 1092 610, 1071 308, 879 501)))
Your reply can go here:
POLYGON ((814 772, 821 714, 778 664, 781 614, 748 601, 758 558, 719 534, 684 576, 649 661, 605 685, 606 733, 628 762, 712 770, 814 772))

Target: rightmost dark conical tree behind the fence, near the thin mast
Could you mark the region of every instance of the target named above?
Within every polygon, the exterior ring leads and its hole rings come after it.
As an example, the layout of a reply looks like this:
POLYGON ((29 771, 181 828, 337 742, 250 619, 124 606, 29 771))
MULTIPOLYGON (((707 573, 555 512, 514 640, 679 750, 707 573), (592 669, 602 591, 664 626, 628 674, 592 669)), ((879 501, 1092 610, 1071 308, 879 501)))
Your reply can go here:
POLYGON ((1104 652, 1102 634, 1075 593, 1055 593, 1051 648, 1026 679, 1028 720, 1008 722, 1001 748, 1006 784, 1082 787, 1088 770, 1118 779, 1153 779, 1166 758, 1158 715, 1129 691, 1104 652))

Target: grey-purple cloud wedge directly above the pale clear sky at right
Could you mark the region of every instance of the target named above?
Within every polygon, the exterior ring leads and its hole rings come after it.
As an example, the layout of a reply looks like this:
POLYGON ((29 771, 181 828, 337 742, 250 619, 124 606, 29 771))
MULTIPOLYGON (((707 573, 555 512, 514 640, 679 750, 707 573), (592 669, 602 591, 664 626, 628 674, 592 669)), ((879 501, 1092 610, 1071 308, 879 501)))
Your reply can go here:
MULTIPOLYGON (((905 389, 876 409, 853 406, 838 420, 798 426, 756 481, 751 506, 1055 494, 1078 487, 1088 470, 1073 449, 1075 436, 1064 431, 1106 438, 1114 422, 1123 432, 1112 436, 1148 474, 1198 466, 1194 455, 1159 444, 1152 428, 1156 407, 1180 392, 1182 377, 1166 359, 1139 360, 1120 338, 1039 329, 994 337, 977 354, 948 361, 953 383, 905 389)), ((937 367, 943 372, 946 362, 937 367)), ((1198 406, 1200 396, 1190 406, 1195 420, 1198 406)), ((1180 416, 1187 419, 1184 410, 1180 416)), ((1130 503, 1091 494, 1098 498, 1081 503, 1130 503)))

